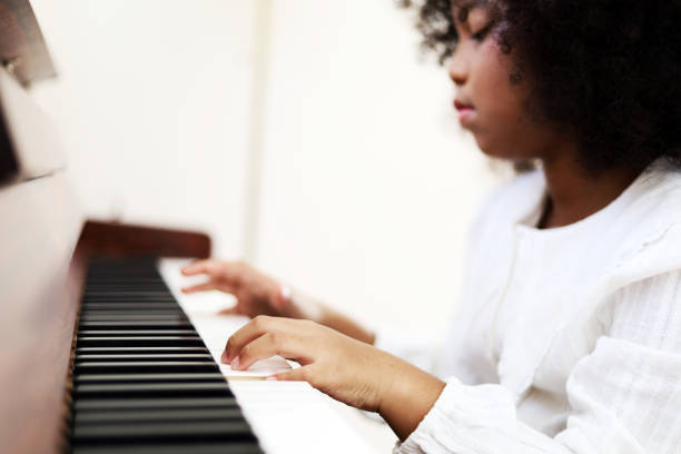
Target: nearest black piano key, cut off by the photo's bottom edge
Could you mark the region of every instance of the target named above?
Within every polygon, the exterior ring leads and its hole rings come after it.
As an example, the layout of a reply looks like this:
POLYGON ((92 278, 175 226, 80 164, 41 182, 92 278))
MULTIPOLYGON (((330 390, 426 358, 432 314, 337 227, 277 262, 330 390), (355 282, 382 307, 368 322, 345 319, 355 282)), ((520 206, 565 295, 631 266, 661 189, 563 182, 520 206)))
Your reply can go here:
POLYGON ((234 441, 234 442, 194 442, 186 444, 165 444, 154 445, 125 444, 117 446, 86 445, 73 447, 73 454, 263 454, 263 451, 255 442, 234 441))

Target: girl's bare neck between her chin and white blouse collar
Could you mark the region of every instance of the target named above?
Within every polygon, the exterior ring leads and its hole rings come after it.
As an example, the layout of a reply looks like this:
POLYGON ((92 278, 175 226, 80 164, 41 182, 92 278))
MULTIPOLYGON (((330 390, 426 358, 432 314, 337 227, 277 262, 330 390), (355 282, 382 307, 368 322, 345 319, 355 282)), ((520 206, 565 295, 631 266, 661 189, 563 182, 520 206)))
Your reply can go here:
POLYGON ((549 203, 541 228, 566 226, 593 215, 616 199, 641 174, 612 169, 593 176, 573 156, 565 152, 543 160, 549 203))

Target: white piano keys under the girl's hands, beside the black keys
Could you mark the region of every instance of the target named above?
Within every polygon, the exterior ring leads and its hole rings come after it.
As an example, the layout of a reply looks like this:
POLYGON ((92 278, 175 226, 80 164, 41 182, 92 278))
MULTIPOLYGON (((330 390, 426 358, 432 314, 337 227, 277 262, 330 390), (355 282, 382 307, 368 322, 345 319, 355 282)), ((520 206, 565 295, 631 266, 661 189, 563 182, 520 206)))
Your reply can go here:
MULTIPOLYGON (((204 279, 181 276, 187 263, 162 258, 158 269, 213 357, 219 361, 227 338, 248 318, 221 314, 231 307, 234 297, 220 292, 182 294, 181 287, 204 279)), ((395 434, 387 424, 367 418, 306 382, 230 379, 229 387, 267 454, 376 454, 389 453, 395 445, 395 434)))

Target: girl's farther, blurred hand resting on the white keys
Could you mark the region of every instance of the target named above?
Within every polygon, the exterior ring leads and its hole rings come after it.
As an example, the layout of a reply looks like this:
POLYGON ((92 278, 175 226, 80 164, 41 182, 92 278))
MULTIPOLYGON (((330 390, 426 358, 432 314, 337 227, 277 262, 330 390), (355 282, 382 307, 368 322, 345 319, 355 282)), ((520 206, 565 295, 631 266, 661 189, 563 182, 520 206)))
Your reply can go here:
POLYGON ((246 263, 199 260, 184 267, 181 273, 185 276, 208 277, 203 284, 182 288, 182 293, 217 289, 234 295, 237 298, 236 306, 224 314, 246 315, 251 318, 258 315, 300 317, 290 298, 284 295, 284 287, 246 263))

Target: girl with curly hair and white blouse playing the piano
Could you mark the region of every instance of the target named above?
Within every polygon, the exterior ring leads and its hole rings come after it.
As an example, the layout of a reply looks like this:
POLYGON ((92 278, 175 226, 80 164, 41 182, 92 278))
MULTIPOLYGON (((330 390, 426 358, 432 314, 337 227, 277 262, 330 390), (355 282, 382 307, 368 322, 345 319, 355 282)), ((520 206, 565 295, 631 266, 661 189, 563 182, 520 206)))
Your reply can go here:
POLYGON ((378 412, 397 453, 681 452, 681 1, 427 0, 418 17, 462 127, 534 167, 471 230, 442 353, 418 368, 405 340, 199 261, 184 273, 209 279, 186 292, 255 317, 221 361, 298 361, 272 379, 378 412))

